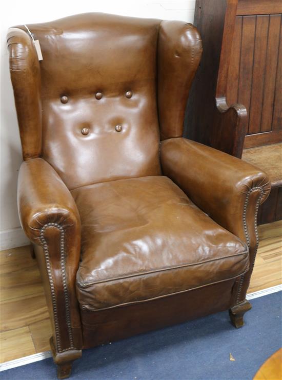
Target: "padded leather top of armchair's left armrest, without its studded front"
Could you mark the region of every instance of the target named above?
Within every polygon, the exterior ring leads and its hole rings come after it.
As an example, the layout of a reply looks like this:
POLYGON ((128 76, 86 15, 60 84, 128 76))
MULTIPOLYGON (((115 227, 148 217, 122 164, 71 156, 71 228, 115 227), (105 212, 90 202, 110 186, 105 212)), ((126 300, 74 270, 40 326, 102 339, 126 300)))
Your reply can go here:
POLYGON ((33 158, 21 165, 17 203, 21 225, 33 243, 42 244, 41 233, 52 223, 80 248, 80 217, 74 199, 44 159, 33 158))

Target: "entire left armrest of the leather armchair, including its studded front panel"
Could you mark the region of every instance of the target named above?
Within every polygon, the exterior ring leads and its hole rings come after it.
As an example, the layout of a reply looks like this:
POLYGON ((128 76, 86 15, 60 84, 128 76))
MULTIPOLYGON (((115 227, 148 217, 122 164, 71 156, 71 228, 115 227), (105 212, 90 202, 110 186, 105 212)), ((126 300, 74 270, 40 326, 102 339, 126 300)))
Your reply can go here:
POLYGON ((42 158, 23 162, 18 175, 22 227, 36 245, 39 269, 53 328, 56 358, 81 354, 82 330, 75 293, 80 258, 80 217, 74 199, 42 158), (75 351, 73 351, 75 350, 75 351))

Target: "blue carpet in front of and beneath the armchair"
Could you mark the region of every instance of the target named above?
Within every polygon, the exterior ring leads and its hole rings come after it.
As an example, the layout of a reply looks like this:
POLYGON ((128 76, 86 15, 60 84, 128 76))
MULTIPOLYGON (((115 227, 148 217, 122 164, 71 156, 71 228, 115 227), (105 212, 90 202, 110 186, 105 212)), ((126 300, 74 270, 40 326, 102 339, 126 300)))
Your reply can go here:
MULTIPOLYGON (((72 380, 246 380, 281 347, 282 292, 252 300, 245 326, 228 312, 83 351, 72 380), (235 362, 229 359, 232 353, 235 362)), ((1 373, 3 380, 56 378, 52 358, 1 373)))

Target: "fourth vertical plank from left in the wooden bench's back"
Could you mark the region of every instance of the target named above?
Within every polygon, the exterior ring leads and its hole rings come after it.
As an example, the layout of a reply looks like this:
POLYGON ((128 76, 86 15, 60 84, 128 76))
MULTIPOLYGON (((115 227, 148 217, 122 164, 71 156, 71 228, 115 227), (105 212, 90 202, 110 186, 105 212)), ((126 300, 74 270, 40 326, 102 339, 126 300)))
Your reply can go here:
POLYGON ((264 98, 263 111, 261 115, 260 131, 266 132, 272 130, 273 101, 275 93, 277 59, 279 48, 279 32, 281 15, 270 15, 268 46, 266 59, 266 72, 264 78, 264 98))

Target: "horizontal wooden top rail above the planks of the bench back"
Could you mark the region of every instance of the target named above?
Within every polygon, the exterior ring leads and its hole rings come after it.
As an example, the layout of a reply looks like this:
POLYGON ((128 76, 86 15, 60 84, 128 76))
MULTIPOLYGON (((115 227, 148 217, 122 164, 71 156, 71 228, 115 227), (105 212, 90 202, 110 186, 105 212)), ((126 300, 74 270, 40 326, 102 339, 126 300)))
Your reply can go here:
POLYGON ((282 13, 281 0, 239 0, 237 15, 282 13))

